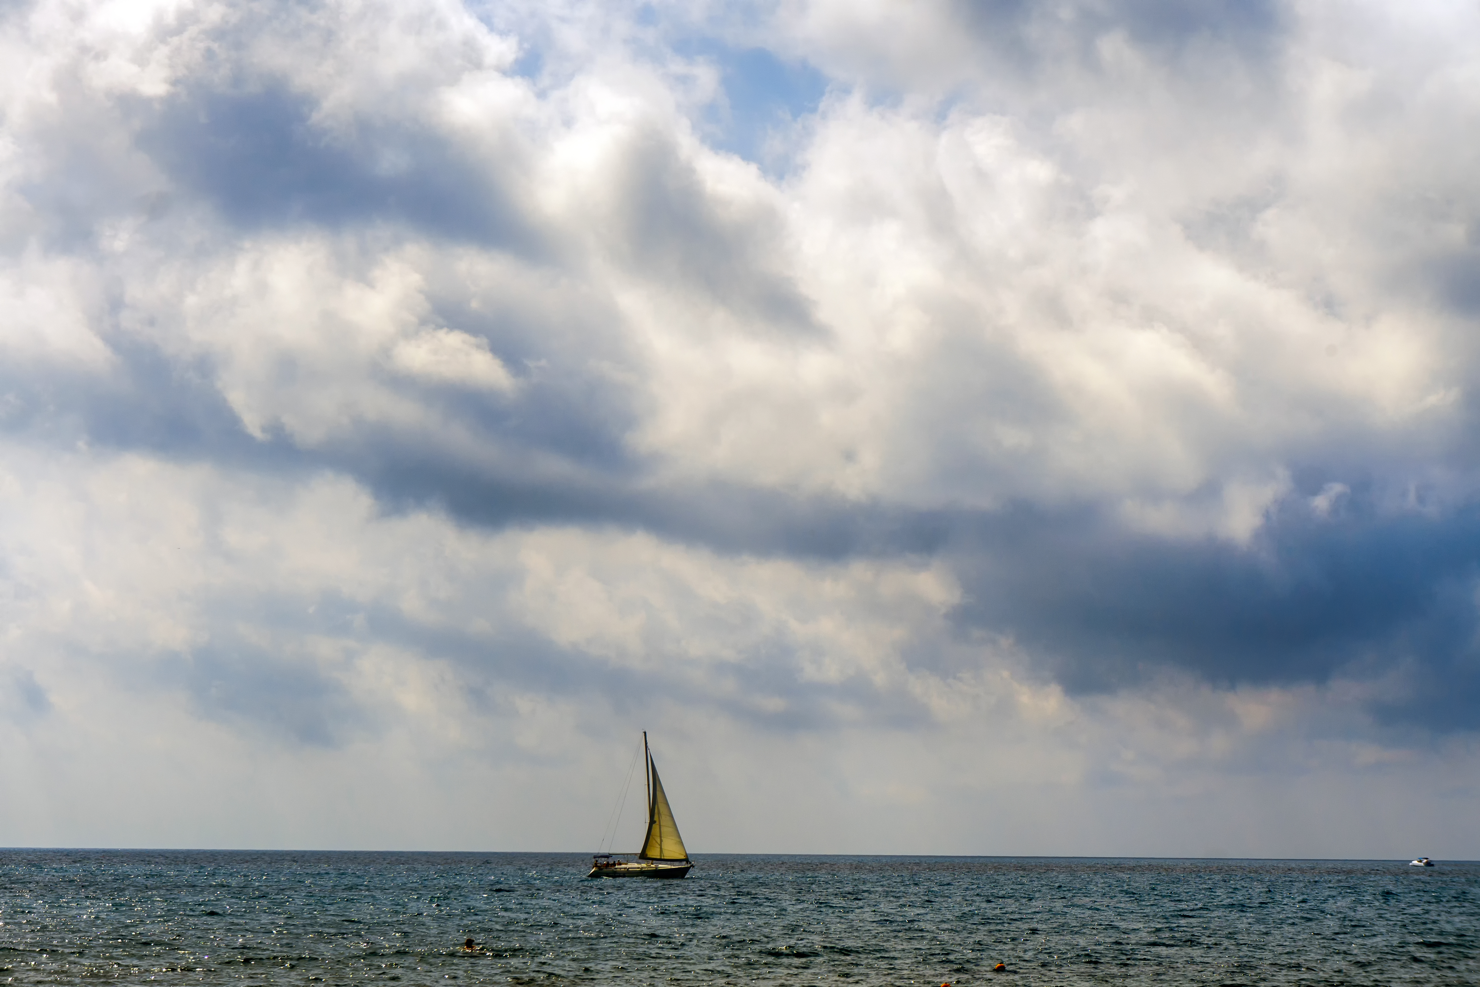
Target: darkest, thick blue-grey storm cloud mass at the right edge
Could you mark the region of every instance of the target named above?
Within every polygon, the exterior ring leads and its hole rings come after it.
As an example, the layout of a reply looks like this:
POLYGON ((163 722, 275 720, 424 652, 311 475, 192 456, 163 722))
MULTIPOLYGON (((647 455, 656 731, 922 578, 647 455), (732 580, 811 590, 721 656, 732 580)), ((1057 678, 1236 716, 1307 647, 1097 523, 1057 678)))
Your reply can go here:
POLYGON ((1221 687, 1402 672, 1372 707, 1384 719, 1480 727, 1480 505, 1342 500, 1322 516, 1286 499, 1248 546, 1020 509, 968 536, 956 619, 1014 635, 1074 693, 1166 670, 1221 687))

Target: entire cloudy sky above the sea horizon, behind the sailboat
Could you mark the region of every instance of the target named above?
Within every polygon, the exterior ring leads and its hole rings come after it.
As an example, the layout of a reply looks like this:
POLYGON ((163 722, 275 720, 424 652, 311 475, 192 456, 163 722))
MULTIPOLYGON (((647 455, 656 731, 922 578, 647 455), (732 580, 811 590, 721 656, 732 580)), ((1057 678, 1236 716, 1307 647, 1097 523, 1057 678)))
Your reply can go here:
POLYGON ((0 3, 0 845, 1480 858, 1476 37, 0 3))

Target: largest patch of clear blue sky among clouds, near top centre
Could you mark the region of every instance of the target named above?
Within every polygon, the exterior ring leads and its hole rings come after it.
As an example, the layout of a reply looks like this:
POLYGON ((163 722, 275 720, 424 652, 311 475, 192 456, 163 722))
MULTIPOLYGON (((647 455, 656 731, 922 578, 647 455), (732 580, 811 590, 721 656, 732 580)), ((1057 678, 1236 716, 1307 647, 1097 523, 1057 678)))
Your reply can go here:
POLYGON ((787 136, 817 112, 827 95, 827 77, 805 61, 781 59, 764 47, 731 47, 715 38, 673 47, 719 70, 721 96, 699 120, 704 139, 762 170, 787 170, 787 136))

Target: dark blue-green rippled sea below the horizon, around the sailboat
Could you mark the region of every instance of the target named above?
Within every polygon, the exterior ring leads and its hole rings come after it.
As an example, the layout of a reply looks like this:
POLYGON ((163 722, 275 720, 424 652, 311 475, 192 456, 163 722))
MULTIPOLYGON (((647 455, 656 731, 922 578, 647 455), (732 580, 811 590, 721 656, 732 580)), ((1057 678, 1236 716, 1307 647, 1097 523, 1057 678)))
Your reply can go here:
POLYGON ((1474 863, 588 860, 0 851, 0 983, 1480 984, 1474 863))

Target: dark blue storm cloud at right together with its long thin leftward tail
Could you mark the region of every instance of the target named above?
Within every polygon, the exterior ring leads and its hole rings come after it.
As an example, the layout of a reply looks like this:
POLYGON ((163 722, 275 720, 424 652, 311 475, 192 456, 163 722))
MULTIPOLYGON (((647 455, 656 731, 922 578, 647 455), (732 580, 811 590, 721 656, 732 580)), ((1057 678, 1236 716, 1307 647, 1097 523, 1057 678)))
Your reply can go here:
MULTIPOLYGON (((1218 687, 1402 673, 1370 704, 1379 719, 1480 727, 1480 505, 1394 511, 1359 488, 1320 515, 1289 497, 1237 545, 1138 534, 1092 508, 910 511, 724 484, 651 488, 641 474, 540 482, 411 456, 339 466, 388 505, 434 503, 475 525, 611 525, 829 562, 941 553, 968 598, 955 620, 1012 636, 1076 694, 1168 670, 1218 687)), ((909 660, 937 667, 943 657, 909 660)))

